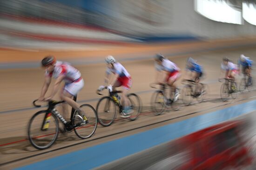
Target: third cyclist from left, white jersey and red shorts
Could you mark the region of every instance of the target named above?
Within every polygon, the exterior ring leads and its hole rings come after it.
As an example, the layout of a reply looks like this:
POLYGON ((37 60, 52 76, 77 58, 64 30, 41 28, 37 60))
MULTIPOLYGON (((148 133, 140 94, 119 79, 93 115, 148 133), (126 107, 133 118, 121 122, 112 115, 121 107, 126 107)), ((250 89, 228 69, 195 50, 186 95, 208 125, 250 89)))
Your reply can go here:
POLYGON ((155 55, 155 69, 157 71, 156 84, 167 83, 168 86, 172 87, 170 98, 172 98, 172 93, 174 92, 174 101, 176 101, 180 92, 174 83, 181 75, 179 67, 158 53, 155 55))

